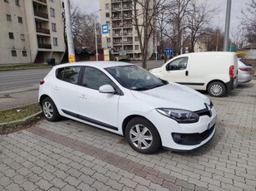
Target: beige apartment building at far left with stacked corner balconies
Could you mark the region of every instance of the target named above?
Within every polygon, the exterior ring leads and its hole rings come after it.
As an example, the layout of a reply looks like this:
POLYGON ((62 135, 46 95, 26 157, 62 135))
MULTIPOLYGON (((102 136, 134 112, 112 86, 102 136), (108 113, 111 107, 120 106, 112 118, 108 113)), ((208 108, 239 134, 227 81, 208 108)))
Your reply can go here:
POLYGON ((62 61, 62 10, 60 0, 0 0, 0 64, 62 61))

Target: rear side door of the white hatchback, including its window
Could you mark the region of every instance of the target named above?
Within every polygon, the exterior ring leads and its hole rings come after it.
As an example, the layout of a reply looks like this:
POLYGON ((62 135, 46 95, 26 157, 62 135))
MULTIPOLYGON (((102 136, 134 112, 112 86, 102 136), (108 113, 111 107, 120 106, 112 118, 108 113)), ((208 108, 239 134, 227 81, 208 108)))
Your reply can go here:
POLYGON ((58 68, 57 80, 53 83, 53 98, 58 109, 65 114, 78 114, 78 79, 81 66, 58 68))

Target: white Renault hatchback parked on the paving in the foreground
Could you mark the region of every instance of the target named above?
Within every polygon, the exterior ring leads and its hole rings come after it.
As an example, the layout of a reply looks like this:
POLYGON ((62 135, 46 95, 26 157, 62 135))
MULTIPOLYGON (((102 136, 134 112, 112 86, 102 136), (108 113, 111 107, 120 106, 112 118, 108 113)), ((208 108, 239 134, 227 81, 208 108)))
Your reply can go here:
POLYGON ((65 116, 118 135, 143 154, 191 150, 215 132, 207 96, 168 83, 133 64, 114 61, 54 66, 40 81, 38 100, 47 120, 65 116))

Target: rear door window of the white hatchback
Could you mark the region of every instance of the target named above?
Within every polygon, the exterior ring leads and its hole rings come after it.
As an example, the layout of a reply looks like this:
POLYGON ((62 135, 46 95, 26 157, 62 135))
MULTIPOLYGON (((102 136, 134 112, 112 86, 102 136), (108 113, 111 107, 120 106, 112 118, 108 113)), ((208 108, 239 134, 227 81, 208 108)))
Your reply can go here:
POLYGON ((78 76, 81 71, 81 66, 68 66, 58 68, 56 77, 61 81, 67 81, 72 84, 78 84, 78 76))

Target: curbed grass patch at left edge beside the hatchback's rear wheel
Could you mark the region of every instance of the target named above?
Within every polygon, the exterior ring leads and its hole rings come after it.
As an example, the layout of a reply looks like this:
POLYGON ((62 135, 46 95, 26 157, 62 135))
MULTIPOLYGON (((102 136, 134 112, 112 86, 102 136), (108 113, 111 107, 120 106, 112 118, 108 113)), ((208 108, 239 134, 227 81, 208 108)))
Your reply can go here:
POLYGON ((23 120, 41 110, 39 104, 24 105, 10 110, 0 110, 0 123, 23 120))

